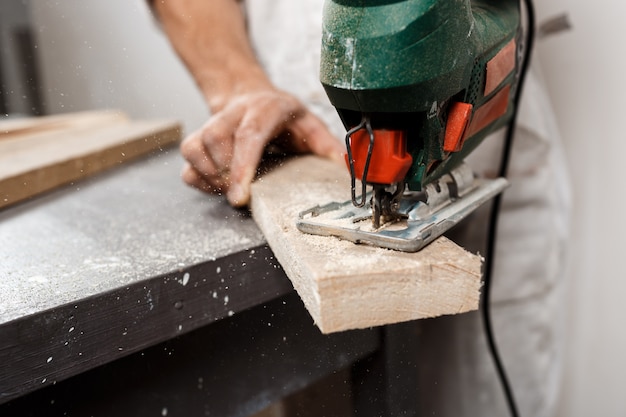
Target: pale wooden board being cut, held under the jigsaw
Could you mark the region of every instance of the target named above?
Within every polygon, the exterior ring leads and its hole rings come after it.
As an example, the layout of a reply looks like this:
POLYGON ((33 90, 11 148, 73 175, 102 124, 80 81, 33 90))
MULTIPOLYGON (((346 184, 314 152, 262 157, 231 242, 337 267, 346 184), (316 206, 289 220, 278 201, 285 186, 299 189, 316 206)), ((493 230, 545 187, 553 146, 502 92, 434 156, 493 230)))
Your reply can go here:
POLYGON ((301 233, 298 214, 345 201, 345 166, 295 158, 252 185, 252 215, 323 333, 478 308, 481 258, 441 237, 417 253, 301 233))

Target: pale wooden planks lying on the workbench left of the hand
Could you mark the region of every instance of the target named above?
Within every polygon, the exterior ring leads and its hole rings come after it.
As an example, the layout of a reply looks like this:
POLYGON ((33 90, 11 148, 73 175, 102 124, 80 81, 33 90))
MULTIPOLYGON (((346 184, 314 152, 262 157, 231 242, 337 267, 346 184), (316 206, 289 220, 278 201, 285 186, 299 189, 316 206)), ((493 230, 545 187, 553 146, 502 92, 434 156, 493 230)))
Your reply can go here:
POLYGON ((0 208, 161 149, 181 136, 177 122, 129 121, 115 113, 84 114, 74 121, 64 116, 14 126, 12 132, 0 140, 0 208))

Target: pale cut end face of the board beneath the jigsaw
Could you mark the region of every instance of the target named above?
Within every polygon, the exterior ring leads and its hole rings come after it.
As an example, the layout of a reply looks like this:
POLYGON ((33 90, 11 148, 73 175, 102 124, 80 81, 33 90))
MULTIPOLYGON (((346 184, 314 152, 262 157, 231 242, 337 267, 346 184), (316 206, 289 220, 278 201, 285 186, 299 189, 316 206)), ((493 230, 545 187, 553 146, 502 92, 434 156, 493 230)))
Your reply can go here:
MULTIPOLYGON (((433 245, 450 247, 455 244, 441 237, 430 244, 433 245)), ((480 257, 472 255, 456 263, 461 262, 466 268, 463 271, 452 262, 429 265, 419 263, 414 270, 399 272, 388 278, 383 286, 376 283, 375 279, 368 279, 366 273, 325 280, 324 283, 330 285, 318 284, 321 300, 318 326, 323 333, 332 333, 477 310, 482 287, 481 274, 472 271, 479 271, 482 261, 480 257), (341 281, 351 282, 346 285, 341 281), (336 291, 337 287, 343 290, 336 291), (353 289, 357 290, 351 293, 353 289), (441 294, 446 294, 445 299, 441 294), (337 314, 348 311, 355 304, 365 305, 367 309, 351 316, 350 321, 337 314), (393 321, 389 320, 390 317, 393 317, 393 321)))

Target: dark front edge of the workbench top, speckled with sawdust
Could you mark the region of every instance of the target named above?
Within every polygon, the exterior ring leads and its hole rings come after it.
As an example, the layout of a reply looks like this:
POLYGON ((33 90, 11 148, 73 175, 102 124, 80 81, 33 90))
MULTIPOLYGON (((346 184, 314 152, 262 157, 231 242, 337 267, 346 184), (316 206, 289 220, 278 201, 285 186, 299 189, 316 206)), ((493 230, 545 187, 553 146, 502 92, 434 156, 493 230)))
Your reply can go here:
POLYGON ((267 245, 0 325, 0 404, 293 291, 267 245))

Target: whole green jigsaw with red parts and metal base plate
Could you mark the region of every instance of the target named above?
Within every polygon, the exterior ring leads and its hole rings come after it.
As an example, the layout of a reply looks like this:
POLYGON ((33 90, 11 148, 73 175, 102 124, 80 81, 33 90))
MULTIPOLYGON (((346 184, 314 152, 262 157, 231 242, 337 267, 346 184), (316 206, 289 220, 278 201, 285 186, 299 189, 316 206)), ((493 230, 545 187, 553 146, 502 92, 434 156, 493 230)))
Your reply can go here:
POLYGON ((414 252, 506 188, 463 161, 513 116, 520 42, 518 0, 327 0, 320 78, 351 199, 298 229, 414 252))

